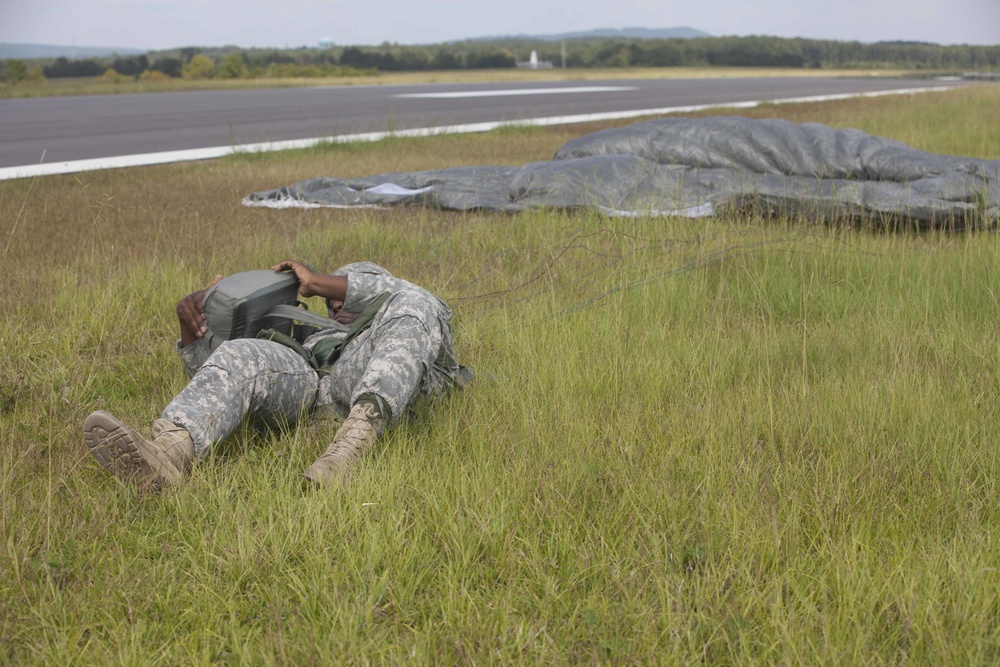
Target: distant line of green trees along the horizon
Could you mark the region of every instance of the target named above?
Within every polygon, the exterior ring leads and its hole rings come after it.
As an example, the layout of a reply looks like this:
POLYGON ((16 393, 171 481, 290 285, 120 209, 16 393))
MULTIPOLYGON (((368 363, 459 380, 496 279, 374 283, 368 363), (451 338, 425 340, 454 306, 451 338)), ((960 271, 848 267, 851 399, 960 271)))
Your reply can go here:
MULTIPOLYGON (((137 78, 247 78, 333 76, 376 71, 503 69, 527 60, 573 68, 595 67, 789 67, 801 69, 1000 69, 1000 46, 941 46, 924 42, 836 42, 778 37, 698 39, 531 39, 406 46, 343 46, 328 49, 218 49, 188 47, 110 58, 32 61, 47 78, 96 77, 114 72, 137 78), (565 47, 564 47, 565 45, 565 47), (563 50, 565 48, 565 51, 563 50)), ((21 70, 18 69, 18 72, 21 70)))

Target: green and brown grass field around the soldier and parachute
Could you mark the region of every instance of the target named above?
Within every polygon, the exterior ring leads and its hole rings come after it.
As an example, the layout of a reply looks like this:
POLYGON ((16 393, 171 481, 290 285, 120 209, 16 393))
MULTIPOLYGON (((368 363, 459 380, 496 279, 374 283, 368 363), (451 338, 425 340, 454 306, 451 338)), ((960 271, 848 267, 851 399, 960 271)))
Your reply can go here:
MULTIPOLYGON (((1000 159, 998 105, 747 115, 1000 159)), ((240 205, 597 127, 0 183, 0 663, 1000 660, 994 231, 240 205), (317 425, 137 497, 83 418, 148 429, 185 382, 177 299, 284 257, 431 288, 478 380, 346 488, 301 488, 317 425)))

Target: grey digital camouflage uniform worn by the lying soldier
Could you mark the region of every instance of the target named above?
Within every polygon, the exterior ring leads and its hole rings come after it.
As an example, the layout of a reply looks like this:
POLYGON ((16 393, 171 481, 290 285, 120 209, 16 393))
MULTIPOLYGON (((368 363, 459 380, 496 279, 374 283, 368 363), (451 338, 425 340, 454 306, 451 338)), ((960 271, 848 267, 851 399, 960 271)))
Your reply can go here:
MULTIPOLYGON (((347 276, 346 312, 360 313, 385 292, 391 296, 323 378, 294 350, 267 340, 226 341, 213 353, 205 339, 178 344, 191 382, 162 418, 187 429, 196 457, 246 416, 292 424, 320 410, 344 414, 359 396, 371 394, 385 401, 396 422, 418 394, 434 398, 471 379, 455 360, 451 309, 443 301, 370 262, 348 264, 333 275, 347 276)), ((323 338, 344 335, 327 329, 304 345, 311 349, 323 338)))

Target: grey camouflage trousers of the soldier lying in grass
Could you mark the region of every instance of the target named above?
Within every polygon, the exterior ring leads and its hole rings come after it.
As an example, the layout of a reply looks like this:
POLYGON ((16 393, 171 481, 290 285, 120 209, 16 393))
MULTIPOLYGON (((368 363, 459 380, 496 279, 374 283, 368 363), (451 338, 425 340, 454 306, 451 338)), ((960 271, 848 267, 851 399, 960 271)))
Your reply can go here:
POLYGON ((365 394, 381 397, 396 421, 433 364, 441 333, 427 326, 434 323, 395 310, 379 313, 322 379, 305 359, 279 343, 226 341, 163 410, 162 418, 187 429, 197 458, 246 417, 290 425, 320 407, 349 408, 365 394))

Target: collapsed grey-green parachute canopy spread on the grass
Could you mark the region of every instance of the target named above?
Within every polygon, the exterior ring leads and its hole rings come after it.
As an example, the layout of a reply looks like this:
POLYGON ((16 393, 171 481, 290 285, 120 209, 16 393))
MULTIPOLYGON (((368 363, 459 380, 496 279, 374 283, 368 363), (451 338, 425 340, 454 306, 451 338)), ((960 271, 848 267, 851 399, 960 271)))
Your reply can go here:
POLYGON ((312 178, 244 203, 690 217, 754 209, 967 227, 1000 221, 1000 161, 936 155, 816 123, 663 118, 574 139, 547 162, 312 178))

